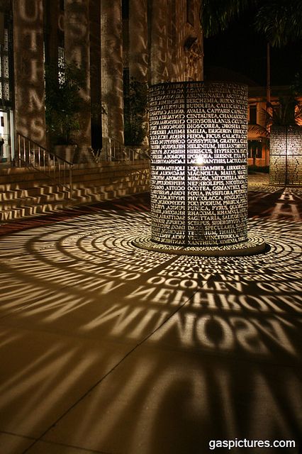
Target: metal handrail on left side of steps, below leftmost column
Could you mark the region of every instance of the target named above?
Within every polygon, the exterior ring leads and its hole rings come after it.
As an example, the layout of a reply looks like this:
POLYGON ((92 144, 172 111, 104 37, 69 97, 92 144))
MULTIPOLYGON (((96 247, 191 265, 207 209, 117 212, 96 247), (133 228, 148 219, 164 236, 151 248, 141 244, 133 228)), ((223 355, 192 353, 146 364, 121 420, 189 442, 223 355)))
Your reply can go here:
POLYGON ((47 148, 31 140, 21 133, 18 138, 18 160, 19 165, 23 163, 27 167, 42 172, 55 184, 64 187, 69 191, 69 198, 72 197, 72 162, 69 162, 47 148))

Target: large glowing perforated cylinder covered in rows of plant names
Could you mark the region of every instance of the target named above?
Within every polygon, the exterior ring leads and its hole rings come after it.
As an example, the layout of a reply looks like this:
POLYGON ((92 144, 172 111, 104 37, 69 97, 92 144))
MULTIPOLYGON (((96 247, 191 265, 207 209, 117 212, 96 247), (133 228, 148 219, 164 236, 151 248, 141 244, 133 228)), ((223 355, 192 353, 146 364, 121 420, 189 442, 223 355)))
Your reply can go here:
POLYGON ((247 87, 151 87, 150 146, 152 241, 247 240, 247 87))

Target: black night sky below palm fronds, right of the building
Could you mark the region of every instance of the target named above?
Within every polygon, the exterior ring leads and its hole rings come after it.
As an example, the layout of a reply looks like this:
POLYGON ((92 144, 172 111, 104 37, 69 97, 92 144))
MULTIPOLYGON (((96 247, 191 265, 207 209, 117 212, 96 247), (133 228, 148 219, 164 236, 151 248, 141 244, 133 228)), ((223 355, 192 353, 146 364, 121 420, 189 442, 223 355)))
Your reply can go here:
MULTIPOLYGON (((257 85, 266 85, 267 44, 255 31, 253 21, 253 14, 245 13, 230 24, 228 31, 205 39, 205 77, 209 67, 223 67, 249 77, 257 85)), ((282 49, 271 48, 271 85, 291 84, 301 63, 301 41, 282 49)))

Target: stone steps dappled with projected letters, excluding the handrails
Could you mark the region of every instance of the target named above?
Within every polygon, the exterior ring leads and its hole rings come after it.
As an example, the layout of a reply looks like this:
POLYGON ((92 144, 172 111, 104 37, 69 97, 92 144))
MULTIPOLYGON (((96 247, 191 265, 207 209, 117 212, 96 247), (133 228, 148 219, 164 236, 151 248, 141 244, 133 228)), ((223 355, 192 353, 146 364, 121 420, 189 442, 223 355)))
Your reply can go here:
MULTIPOLYGON (((149 190, 149 163, 74 165, 72 197, 60 184, 28 167, 0 170, 0 224, 149 190)), ((1 228, 1 226, 0 226, 1 228)))

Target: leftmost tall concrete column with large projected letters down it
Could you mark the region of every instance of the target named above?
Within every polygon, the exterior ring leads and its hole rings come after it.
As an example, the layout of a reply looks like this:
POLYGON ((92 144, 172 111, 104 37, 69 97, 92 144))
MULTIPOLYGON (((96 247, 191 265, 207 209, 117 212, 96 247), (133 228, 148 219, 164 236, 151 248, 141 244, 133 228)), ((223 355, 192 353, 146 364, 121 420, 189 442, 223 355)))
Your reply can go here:
POLYGON ((43 0, 13 0, 16 131, 45 145, 43 0))

